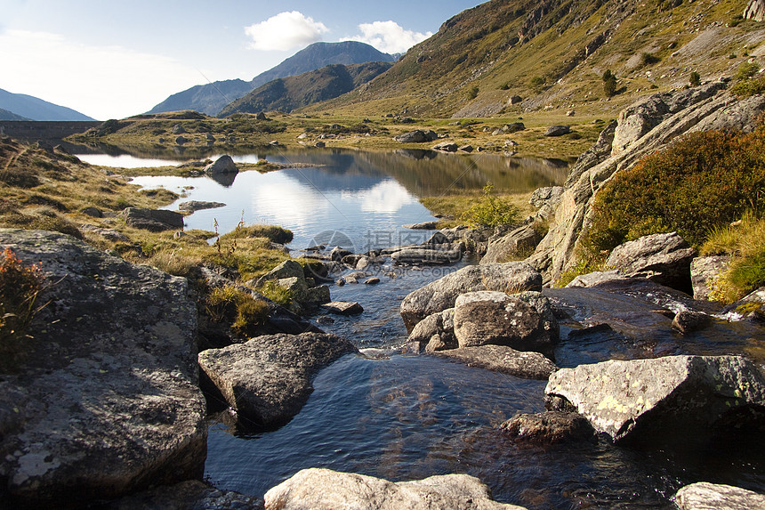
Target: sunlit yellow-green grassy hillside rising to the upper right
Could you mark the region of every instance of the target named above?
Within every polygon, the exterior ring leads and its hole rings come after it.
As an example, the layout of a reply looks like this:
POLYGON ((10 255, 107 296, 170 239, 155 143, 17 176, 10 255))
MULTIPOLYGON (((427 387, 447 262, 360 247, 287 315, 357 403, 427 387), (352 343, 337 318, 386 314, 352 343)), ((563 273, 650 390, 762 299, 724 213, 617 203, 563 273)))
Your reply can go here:
POLYGON ((638 95, 732 75, 765 55, 745 0, 493 0, 447 20, 370 84, 306 111, 490 117, 616 112, 638 95), (617 78, 608 97, 601 79, 617 78), (512 96, 523 98, 510 105, 512 96))

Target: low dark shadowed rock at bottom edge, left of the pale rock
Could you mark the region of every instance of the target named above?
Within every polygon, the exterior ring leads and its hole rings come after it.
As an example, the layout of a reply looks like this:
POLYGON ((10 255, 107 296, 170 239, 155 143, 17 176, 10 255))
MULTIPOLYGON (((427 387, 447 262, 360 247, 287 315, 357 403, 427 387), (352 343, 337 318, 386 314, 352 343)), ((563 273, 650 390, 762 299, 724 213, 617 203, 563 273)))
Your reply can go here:
POLYGON ((263 500, 238 492, 218 490, 198 480, 157 487, 107 506, 108 510, 263 510, 263 500))

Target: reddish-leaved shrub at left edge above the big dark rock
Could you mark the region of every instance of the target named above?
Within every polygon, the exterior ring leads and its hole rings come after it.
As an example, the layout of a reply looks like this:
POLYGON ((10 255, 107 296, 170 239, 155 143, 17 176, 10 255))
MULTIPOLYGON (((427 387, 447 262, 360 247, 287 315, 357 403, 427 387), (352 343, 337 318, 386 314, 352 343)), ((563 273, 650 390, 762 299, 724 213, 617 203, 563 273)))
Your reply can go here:
POLYGON ((0 255, 0 371, 12 369, 20 357, 23 331, 39 311, 43 288, 40 264, 26 265, 5 248, 0 255))

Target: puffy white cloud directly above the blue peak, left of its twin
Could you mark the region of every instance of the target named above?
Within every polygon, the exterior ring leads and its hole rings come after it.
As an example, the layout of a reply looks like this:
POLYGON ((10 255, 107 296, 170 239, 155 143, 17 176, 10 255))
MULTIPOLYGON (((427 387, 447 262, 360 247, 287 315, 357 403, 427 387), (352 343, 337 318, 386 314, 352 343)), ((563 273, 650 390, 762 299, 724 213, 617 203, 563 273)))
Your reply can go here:
POLYGON ((280 12, 276 16, 245 27, 245 33, 253 39, 254 50, 291 50, 297 46, 310 45, 321 40, 329 32, 324 23, 306 18, 302 12, 280 12))

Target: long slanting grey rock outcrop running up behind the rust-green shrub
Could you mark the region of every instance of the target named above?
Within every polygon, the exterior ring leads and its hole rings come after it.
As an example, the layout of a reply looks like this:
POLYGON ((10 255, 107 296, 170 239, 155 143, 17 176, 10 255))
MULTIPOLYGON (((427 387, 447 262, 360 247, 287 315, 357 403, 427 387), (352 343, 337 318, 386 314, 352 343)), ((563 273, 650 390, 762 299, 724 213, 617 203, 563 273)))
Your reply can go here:
POLYGON ((765 96, 739 101, 722 92, 724 86, 716 82, 640 100, 619 116, 610 150, 606 150, 610 136, 601 136, 600 149, 588 151, 586 158, 583 155, 577 161, 550 231, 527 259, 543 273, 545 283, 578 262, 575 247, 583 228, 592 221, 592 198, 614 174, 631 168, 680 134, 730 126, 753 129, 754 117, 765 109, 765 96))

